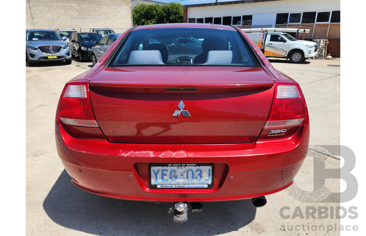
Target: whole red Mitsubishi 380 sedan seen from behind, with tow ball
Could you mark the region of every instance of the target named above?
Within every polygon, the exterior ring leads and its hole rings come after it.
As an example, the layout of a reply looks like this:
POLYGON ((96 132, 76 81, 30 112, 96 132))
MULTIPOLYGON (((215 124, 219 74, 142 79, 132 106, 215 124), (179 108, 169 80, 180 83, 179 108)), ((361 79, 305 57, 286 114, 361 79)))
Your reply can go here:
POLYGON ((298 83, 240 29, 161 24, 127 30, 66 83, 56 145, 77 187, 149 202, 251 199, 289 187, 307 154, 298 83))

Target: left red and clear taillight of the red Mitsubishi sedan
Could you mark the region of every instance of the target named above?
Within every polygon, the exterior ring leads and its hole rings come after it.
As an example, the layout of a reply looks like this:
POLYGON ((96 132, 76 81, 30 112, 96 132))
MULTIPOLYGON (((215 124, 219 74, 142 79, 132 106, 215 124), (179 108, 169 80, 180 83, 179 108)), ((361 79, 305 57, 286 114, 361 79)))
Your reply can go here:
POLYGON ((88 83, 67 83, 56 112, 56 124, 99 127, 89 99, 88 83))

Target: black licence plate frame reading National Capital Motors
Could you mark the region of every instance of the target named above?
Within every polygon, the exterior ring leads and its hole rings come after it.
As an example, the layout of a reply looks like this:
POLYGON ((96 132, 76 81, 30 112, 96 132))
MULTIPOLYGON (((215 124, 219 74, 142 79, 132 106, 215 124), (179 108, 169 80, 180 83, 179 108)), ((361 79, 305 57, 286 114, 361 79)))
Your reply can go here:
MULTIPOLYGON (((182 188, 182 189, 208 189, 208 188, 212 188, 214 186, 214 164, 213 163, 187 163, 187 162, 184 162, 184 163, 150 163, 148 171, 149 171, 149 187, 150 188, 155 188, 155 189, 179 189, 179 188, 182 188), (167 167, 167 168, 168 167, 169 168, 177 167, 177 169, 178 168, 183 169, 183 170, 186 169, 187 171, 188 171, 189 167, 191 167, 191 168, 193 167, 193 168, 195 168, 195 170, 197 170, 198 167, 209 167, 209 168, 211 168, 211 173, 210 173, 211 183, 210 184, 203 184, 204 186, 207 185, 207 187, 186 187, 187 185, 188 186, 202 186, 202 184, 164 184, 164 185, 153 184, 152 167, 161 167, 161 168, 163 168, 163 167, 167 167), (180 167, 182 167, 182 168, 180 168, 180 167), (184 187, 182 185, 184 185, 184 187), (161 187, 161 186, 164 186, 164 187, 161 187), (172 187, 165 187, 165 186, 172 186, 172 187), (175 187, 175 186, 178 186, 178 187, 175 187)), ((193 171, 193 173, 194 172, 195 171, 193 171)), ((167 172, 167 176, 169 176, 169 172, 167 172)), ((194 176, 193 179, 195 180, 197 177, 198 176, 194 176)), ((202 178, 202 179, 203 179, 202 181, 204 181, 204 178, 202 178)), ((200 181, 200 182, 202 182, 202 181, 200 181)), ((199 181, 196 181, 196 183, 197 182, 199 182, 199 181)))

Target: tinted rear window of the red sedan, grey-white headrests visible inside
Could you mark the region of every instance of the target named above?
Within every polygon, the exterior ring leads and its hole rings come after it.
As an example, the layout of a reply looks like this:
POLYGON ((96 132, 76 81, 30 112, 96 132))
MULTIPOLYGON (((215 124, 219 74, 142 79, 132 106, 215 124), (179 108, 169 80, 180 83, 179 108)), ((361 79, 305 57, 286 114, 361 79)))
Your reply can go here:
POLYGON ((139 65, 258 67, 237 31, 202 28, 132 31, 109 67, 139 65))

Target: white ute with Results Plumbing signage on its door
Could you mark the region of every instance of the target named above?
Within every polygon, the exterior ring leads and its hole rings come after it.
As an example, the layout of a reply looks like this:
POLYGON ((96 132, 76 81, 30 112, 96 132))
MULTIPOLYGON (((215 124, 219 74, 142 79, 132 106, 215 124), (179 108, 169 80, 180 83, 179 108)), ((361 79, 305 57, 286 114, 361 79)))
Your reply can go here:
POLYGON ((297 40, 290 32, 309 33, 306 29, 294 28, 264 28, 243 29, 257 44, 266 57, 282 57, 290 59, 291 63, 300 63, 317 55, 318 44, 306 40, 297 40))

